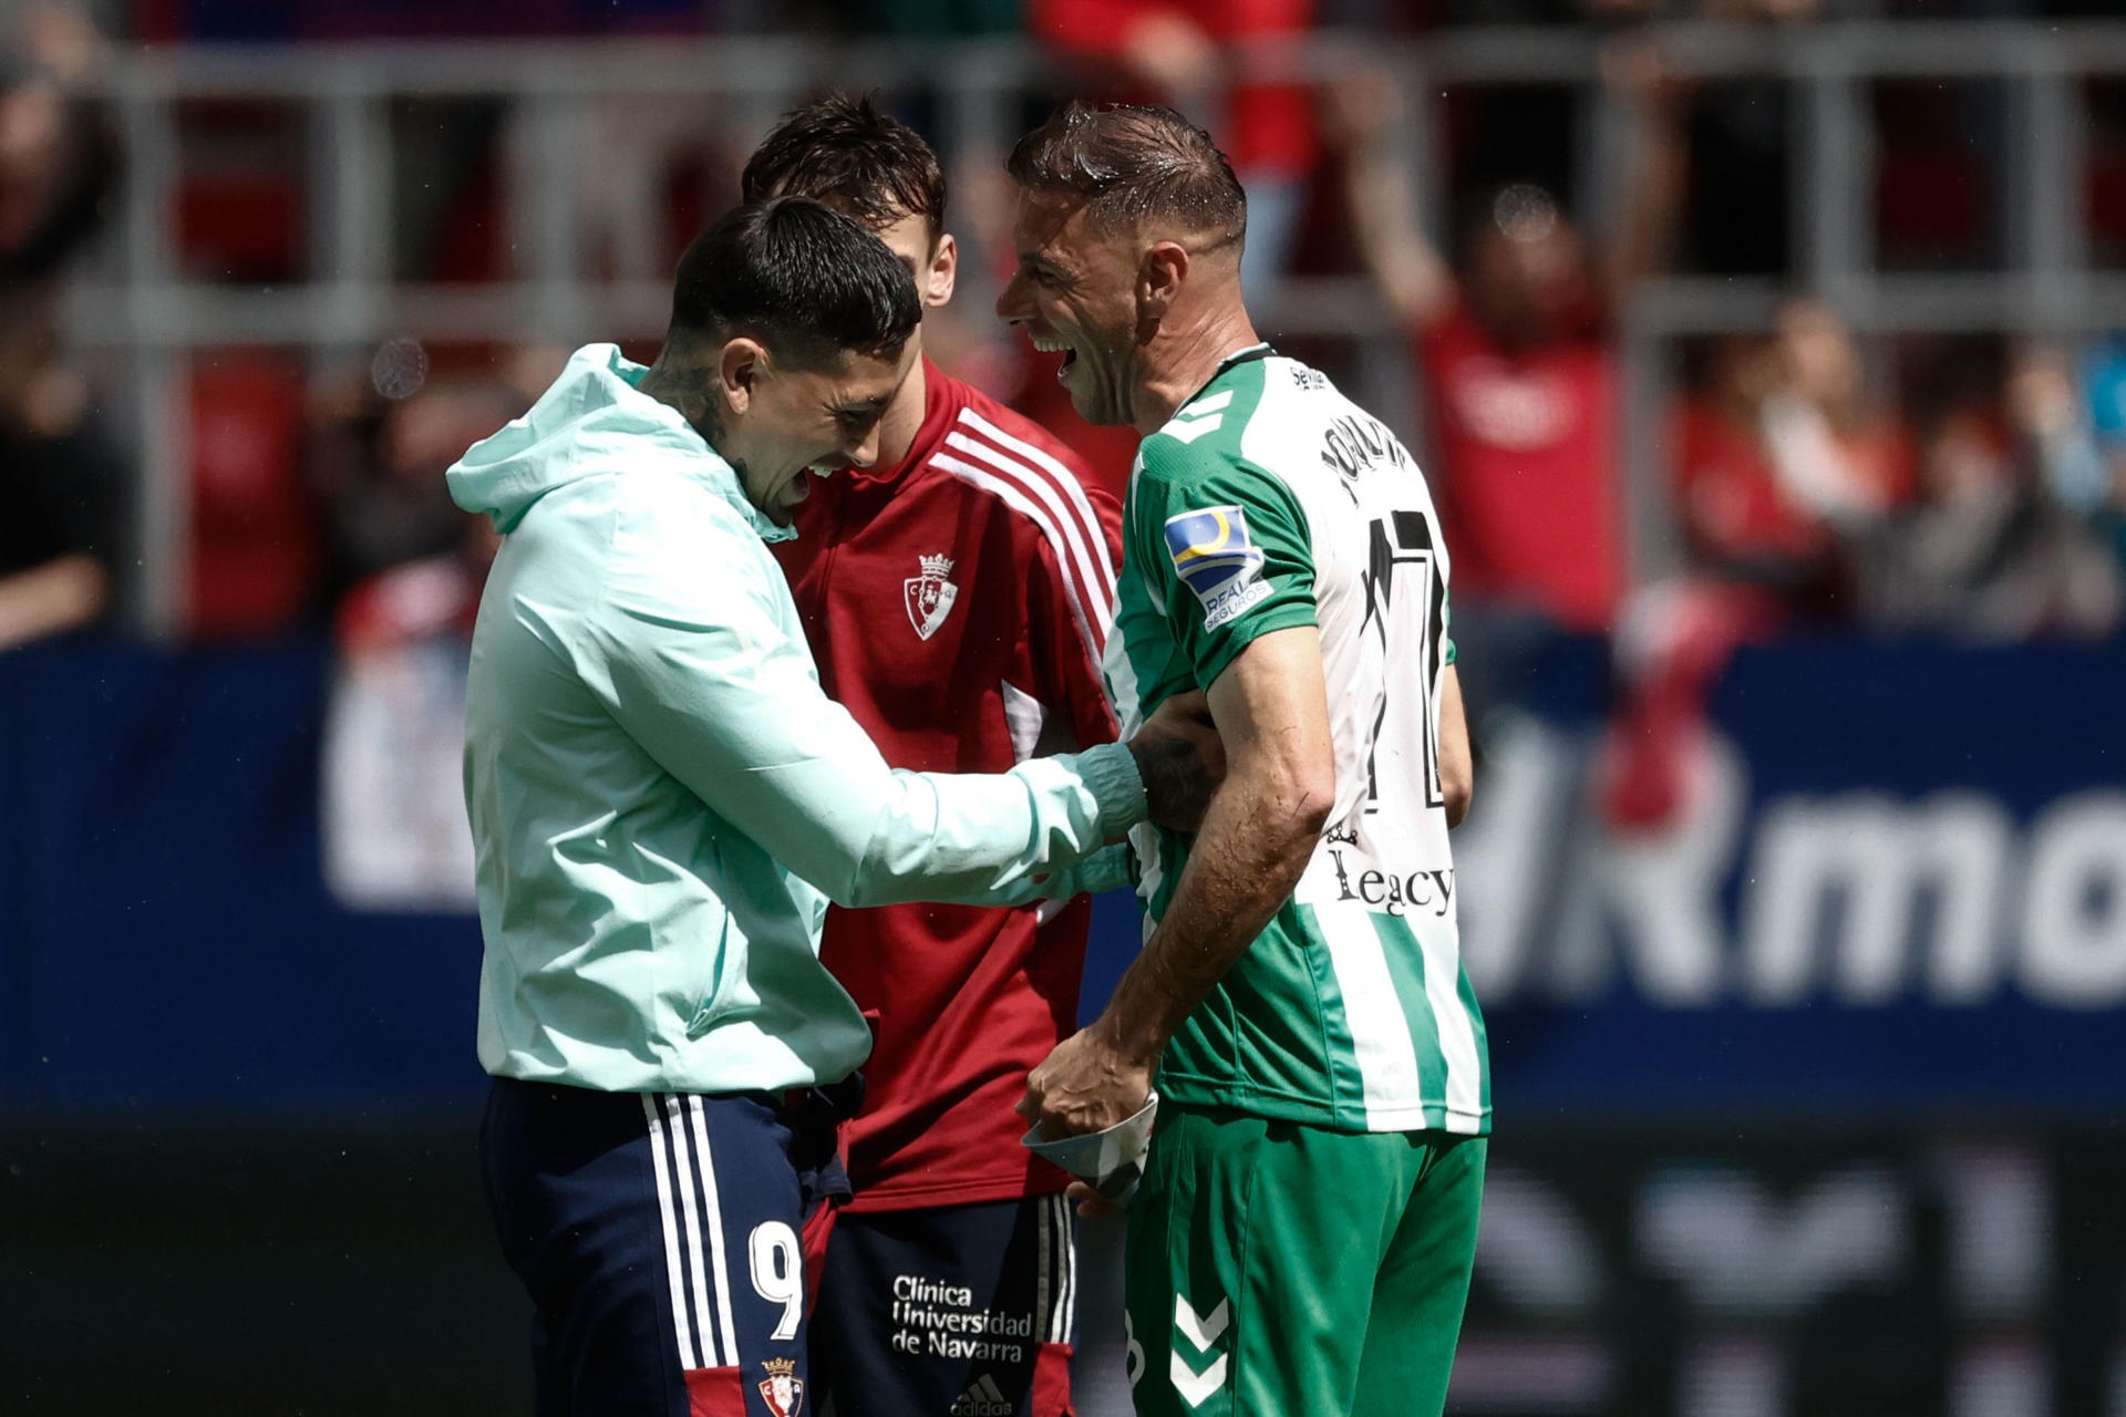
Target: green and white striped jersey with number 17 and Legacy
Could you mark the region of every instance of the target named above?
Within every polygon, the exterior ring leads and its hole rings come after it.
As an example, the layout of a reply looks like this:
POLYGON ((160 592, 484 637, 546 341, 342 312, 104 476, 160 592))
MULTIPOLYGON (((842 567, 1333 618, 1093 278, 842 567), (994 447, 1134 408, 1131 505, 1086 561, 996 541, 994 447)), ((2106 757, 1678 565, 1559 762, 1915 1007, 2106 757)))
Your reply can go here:
MULTIPOLYGON (((1133 733, 1256 637, 1318 625, 1337 797, 1269 926, 1167 1043, 1159 1090, 1346 1132, 1490 1130, 1439 792, 1448 552, 1416 461, 1307 365, 1233 355, 1144 440, 1108 686, 1133 733)), ((1146 935, 1193 837, 1140 826, 1146 935)))

